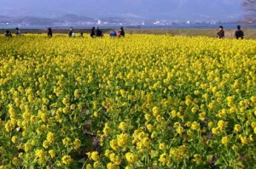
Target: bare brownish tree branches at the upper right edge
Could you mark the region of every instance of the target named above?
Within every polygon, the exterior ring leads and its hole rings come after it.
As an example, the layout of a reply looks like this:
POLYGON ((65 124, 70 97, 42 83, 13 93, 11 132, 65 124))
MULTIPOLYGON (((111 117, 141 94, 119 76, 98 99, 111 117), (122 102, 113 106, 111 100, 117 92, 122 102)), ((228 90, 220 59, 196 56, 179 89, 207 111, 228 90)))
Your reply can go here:
POLYGON ((247 22, 256 23, 256 0, 243 0, 244 16, 247 22))

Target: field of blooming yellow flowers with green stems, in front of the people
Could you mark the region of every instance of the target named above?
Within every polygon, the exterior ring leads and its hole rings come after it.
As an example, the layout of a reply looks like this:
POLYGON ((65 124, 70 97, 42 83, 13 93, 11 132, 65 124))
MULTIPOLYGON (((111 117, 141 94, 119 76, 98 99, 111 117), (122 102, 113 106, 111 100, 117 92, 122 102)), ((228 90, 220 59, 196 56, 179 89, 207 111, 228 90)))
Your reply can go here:
POLYGON ((0 44, 0 169, 256 167, 255 40, 0 44))

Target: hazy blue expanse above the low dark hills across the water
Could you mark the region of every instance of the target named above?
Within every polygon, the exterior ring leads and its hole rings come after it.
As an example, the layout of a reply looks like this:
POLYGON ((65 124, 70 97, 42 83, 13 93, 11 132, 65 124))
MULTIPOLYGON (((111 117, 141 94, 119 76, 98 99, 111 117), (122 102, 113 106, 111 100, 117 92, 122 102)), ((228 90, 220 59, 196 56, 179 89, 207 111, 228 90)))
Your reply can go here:
POLYGON ((242 0, 0 0, 0 15, 123 16, 164 20, 239 20, 242 0))

